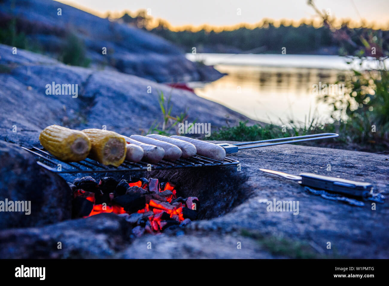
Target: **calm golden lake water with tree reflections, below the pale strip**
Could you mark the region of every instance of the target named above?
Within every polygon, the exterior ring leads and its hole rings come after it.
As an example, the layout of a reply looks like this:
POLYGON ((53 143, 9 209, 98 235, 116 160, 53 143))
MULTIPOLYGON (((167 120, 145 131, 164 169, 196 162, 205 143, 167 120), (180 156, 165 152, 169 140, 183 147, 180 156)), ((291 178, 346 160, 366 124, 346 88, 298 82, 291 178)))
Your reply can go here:
POLYGON ((312 92, 319 82, 343 81, 341 70, 315 68, 253 67, 216 65, 228 73, 221 79, 197 86, 195 93, 245 114, 249 118, 276 124, 290 119, 304 122, 315 116, 321 122, 332 122, 331 109, 318 102, 312 92))

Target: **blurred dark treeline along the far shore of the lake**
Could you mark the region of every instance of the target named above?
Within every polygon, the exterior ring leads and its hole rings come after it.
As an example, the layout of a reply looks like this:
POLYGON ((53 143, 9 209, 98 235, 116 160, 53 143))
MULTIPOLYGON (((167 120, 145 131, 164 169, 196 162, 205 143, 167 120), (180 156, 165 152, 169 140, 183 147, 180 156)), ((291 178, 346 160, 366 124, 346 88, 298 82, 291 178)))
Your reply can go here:
MULTIPOLYGON (((187 53, 191 53, 192 47, 197 48, 197 52, 208 53, 277 53, 282 47, 287 48, 288 54, 338 54, 340 51, 349 55, 359 52, 357 46, 363 46, 361 35, 365 33, 380 34, 380 39, 384 40, 383 45, 389 45, 389 31, 372 30, 371 28, 348 28, 349 22, 343 22, 338 29, 340 37, 333 37, 333 29, 328 25, 315 28, 311 24, 302 23, 295 27, 286 22, 281 22, 280 26, 275 26, 272 20, 265 20, 262 26, 254 29, 244 26, 232 31, 210 32, 202 29, 198 32, 183 30, 173 32, 170 25, 158 19, 158 26, 152 27, 155 20, 148 16, 146 11, 141 10, 134 17, 128 13, 120 18, 124 23, 137 26, 144 30, 159 35, 180 46, 187 53), (342 45, 344 35, 352 30, 352 42, 342 45)), ((374 35, 373 35, 374 36, 374 35)))

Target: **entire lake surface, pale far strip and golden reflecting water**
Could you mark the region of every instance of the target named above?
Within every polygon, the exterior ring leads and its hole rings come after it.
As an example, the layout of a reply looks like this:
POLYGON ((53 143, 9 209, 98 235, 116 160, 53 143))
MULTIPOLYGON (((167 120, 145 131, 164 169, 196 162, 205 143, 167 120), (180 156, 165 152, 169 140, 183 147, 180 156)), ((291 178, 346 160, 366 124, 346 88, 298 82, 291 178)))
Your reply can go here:
POLYGON ((190 83, 197 95, 275 124, 290 119, 303 123, 312 116, 331 123, 331 109, 318 101, 313 87, 342 81, 349 69, 340 56, 187 54, 187 58, 228 74, 210 83, 190 83))

